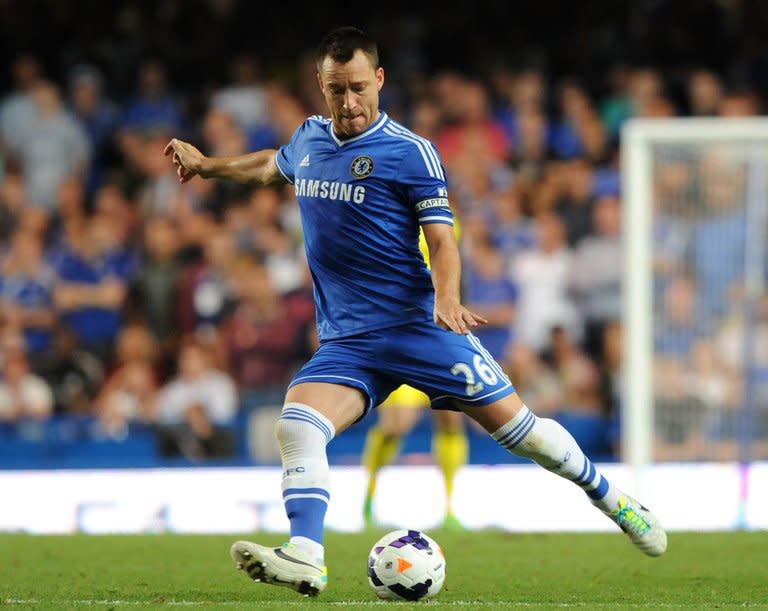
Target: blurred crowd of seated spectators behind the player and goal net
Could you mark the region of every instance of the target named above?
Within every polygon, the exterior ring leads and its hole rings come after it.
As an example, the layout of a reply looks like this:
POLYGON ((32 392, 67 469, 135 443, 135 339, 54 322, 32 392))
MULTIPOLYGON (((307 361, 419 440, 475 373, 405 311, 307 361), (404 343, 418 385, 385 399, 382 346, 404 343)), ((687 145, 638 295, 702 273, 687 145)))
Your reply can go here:
MULTIPOLYGON (((600 88, 536 61, 426 73, 425 51, 406 42, 384 57, 397 78, 382 107, 442 156, 462 221, 465 301, 490 321, 477 335, 537 413, 588 416, 617 443, 621 127, 632 117, 755 116, 758 84, 631 59, 608 66, 600 88)), ((171 137, 209 155, 278 147, 307 115, 325 114, 311 49, 280 60, 291 78, 266 71, 268 56, 233 52, 222 82, 199 89, 189 79, 178 88, 175 59, 162 53, 137 61, 127 87, 125 67, 108 62, 73 57, 53 72, 34 52, 9 62, 0 421, 89 414, 113 438, 143 422, 169 454, 227 455, 238 410, 279 396, 311 355, 292 187, 179 185, 163 155, 171 137)), ((704 155, 659 163, 658 392, 668 405, 690 407, 698 392, 697 405, 735 406, 740 339, 727 299, 738 299, 744 172, 704 155), (715 211, 704 221, 681 205, 699 196, 715 211)), ((671 456, 696 455, 680 450, 695 427, 665 430, 671 456)))

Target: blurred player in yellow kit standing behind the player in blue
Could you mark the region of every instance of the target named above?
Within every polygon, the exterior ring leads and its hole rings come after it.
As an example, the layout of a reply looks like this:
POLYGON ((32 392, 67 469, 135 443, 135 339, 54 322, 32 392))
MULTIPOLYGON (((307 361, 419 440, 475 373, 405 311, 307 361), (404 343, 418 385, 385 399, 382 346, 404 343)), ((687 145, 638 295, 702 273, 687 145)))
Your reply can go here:
MULTIPOLYGON (((454 232, 459 238, 458 219, 454 217, 454 232)), ((424 260, 429 265, 429 251, 422 232, 419 246, 424 260)), ((368 487, 365 493, 363 518, 366 526, 374 525, 373 501, 379 471, 394 462, 400 454, 403 439, 418 423, 424 409, 430 405, 429 397, 407 384, 394 390, 377 408, 378 423, 368 431, 363 450, 363 466, 368 470, 368 487)), ((432 455, 443 472, 445 481, 445 522, 446 528, 461 528, 453 513, 453 488, 456 474, 467 463, 469 442, 464 431, 461 412, 434 410, 432 412, 432 455)))

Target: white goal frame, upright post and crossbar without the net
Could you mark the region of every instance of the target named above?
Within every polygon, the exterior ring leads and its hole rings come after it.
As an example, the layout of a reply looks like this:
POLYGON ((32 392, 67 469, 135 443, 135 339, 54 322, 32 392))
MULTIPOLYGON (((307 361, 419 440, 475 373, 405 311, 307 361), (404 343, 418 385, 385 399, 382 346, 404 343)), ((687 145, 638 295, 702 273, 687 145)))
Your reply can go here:
POLYGON ((754 263, 765 254, 768 118, 628 121, 621 133, 625 244, 621 442, 622 460, 636 469, 654 462, 654 151, 677 146, 696 151, 732 146, 743 151, 747 219, 744 289, 747 299, 759 298, 764 292, 764 274, 754 263))

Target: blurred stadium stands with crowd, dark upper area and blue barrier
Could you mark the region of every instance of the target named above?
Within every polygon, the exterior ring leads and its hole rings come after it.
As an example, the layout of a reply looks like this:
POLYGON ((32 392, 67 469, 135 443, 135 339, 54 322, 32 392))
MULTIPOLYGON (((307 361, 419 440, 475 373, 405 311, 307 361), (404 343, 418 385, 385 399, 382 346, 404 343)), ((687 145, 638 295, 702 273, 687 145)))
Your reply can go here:
MULTIPOLYGON (((767 20, 759 1, 0 3, 0 469, 277 464, 272 422, 315 342, 293 195, 179 186, 162 151, 286 142, 324 112, 313 45, 347 23, 381 43, 382 107, 441 152, 484 342, 537 413, 617 461, 621 127, 761 115, 767 20)), ((688 367, 696 333, 657 349, 688 367)), ((691 441, 691 393, 657 458, 735 460, 737 435, 691 441)), ((359 462, 371 421, 332 463, 359 462)), ((430 461, 429 432, 402 462, 430 461)), ((516 462, 470 436, 472 463, 516 462)))

